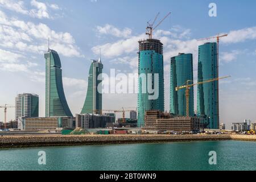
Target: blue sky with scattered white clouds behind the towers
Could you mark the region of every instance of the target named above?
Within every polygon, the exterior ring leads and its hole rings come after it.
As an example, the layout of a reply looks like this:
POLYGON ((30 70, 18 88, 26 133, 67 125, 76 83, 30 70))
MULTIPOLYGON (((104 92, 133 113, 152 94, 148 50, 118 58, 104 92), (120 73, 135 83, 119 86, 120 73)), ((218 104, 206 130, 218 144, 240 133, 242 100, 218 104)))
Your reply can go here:
MULTIPOLYGON (((136 73, 138 40, 147 21, 172 12, 154 32, 164 44, 165 109, 169 110, 170 57, 193 53, 197 74, 197 39, 228 33, 220 43, 220 117, 230 126, 256 120, 256 2, 146 0, 0 0, 0 105, 15 105, 17 93, 39 94, 45 106, 45 60, 48 37, 63 68, 64 91, 73 114, 84 104, 90 59, 101 48, 104 72, 136 73), (209 3, 217 17, 208 15, 209 3)), ((196 89, 195 89, 196 92, 196 89)), ((196 94, 195 94, 196 96, 196 94)), ((136 107, 137 94, 104 94, 104 109, 136 107)), ((195 97, 196 105, 196 97, 195 97)), ((196 107, 195 107, 196 108, 196 107)), ((8 109, 7 119, 14 119, 8 109)), ((3 109, 0 109, 3 121, 3 109)))

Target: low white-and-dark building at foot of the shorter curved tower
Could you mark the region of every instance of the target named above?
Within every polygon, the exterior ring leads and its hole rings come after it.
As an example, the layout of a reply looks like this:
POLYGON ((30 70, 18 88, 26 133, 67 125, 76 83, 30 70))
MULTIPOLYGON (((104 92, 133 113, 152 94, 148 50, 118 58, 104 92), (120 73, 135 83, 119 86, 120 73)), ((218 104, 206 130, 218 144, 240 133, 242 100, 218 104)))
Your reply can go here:
POLYGON ((105 128, 113 122, 113 116, 100 114, 76 114, 76 127, 82 129, 105 128))

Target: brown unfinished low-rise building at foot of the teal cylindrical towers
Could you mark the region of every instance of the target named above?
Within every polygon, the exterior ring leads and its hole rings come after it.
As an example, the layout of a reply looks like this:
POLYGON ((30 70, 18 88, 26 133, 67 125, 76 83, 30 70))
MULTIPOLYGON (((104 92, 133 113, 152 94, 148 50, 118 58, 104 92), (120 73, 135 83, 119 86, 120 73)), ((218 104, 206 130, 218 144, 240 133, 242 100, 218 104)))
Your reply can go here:
POLYGON ((146 111, 144 120, 144 130, 195 132, 201 129, 198 117, 174 117, 159 110, 146 111))

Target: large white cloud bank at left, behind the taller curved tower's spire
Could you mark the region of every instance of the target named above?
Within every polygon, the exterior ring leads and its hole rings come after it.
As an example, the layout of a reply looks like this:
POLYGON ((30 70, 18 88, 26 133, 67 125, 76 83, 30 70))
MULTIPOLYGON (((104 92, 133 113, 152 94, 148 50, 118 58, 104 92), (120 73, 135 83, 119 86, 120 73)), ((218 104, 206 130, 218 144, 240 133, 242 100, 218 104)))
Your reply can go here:
MULTIPOLYGON (((1 0, 0 0, 1 1, 1 0)), ((84 57, 68 32, 55 32, 46 24, 34 24, 22 20, 7 18, 0 11, 0 46, 34 53, 47 51, 47 39, 50 48, 68 57, 84 57)))

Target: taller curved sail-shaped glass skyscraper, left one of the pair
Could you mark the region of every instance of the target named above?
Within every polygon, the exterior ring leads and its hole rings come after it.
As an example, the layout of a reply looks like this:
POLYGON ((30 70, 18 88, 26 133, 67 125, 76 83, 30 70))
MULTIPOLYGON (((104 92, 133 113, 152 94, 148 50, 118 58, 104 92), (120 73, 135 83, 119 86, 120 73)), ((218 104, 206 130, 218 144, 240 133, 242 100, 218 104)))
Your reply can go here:
POLYGON ((65 98, 60 57, 51 49, 46 59, 46 117, 73 117, 65 98))

